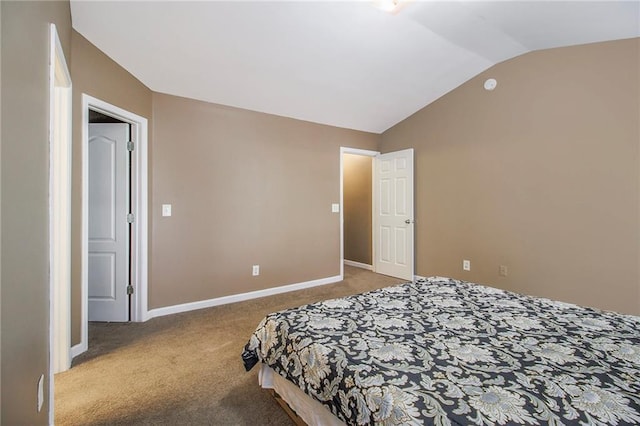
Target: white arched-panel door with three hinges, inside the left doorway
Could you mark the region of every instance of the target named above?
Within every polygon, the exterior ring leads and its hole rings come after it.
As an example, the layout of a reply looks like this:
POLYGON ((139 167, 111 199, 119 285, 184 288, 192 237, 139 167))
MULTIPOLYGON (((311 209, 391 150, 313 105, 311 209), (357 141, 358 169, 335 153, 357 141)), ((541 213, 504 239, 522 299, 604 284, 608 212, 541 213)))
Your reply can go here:
POLYGON ((129 125, 89 124, 89 321, 128 321, 129 125))

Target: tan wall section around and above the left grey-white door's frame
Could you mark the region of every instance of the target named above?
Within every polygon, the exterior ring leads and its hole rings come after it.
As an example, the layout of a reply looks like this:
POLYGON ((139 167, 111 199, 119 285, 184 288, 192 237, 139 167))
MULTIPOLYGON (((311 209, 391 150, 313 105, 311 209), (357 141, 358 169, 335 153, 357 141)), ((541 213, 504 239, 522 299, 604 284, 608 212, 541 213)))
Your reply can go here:
POLYGON ((71 340, 80 342, 81 332, 81 215, 82 215, 82 94, 98 98, 149 119, 151 142, 151 90, 111 60, 76 31, 71 35, 73 80, 73 200, 71 340))

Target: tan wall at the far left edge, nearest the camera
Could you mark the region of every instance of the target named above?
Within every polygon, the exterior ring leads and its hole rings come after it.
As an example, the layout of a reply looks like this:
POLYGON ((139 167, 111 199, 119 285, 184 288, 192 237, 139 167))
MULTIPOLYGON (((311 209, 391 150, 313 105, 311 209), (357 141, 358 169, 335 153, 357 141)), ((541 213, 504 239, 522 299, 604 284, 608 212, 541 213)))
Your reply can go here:
POLYGON ((2 416, 44 425, 49 412, 49 23, 70 60, 68 2, 1 2, 2 416), (44 406, 36 389, 45 376, 44 406))

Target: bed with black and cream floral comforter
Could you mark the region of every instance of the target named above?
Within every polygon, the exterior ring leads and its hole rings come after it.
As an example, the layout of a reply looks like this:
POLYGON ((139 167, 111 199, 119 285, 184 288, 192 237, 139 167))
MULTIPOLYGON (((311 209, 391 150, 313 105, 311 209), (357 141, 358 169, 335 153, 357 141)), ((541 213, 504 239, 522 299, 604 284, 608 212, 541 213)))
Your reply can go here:
POLYGON ((269 314, 242 358, 309 424, 640 424, 640 317, 449 278, 269 314))

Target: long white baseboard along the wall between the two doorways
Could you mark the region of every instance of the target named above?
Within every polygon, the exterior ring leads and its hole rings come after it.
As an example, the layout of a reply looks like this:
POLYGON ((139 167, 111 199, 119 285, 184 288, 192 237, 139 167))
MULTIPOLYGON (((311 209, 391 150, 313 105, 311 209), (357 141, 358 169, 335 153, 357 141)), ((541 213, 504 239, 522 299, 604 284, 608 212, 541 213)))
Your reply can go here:
POLYGON ((342 281, 342 277, 320 278, 312 281, 305 281, 297 284, 283 285, 280 287, 267 288, 264 290, 250 291, 248 293, 233 294, 231 296, 217 297, 215 299, 201 300, 198 302, 183 303, 181 305, 166 306, 164 308, 151 309, 148 318, 161 317, 165 315, 179 314, 181 312, 195 311, 196 309, 211 308, 213 306, 226 305, 229 303, 242 302, 260 297, 273 296, 275 294, 287 293, 289 291, 302 290, 305 288, 317 287, 320 285, 333 284, 342 281))

